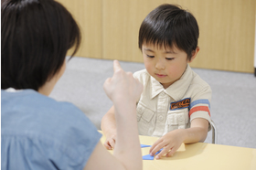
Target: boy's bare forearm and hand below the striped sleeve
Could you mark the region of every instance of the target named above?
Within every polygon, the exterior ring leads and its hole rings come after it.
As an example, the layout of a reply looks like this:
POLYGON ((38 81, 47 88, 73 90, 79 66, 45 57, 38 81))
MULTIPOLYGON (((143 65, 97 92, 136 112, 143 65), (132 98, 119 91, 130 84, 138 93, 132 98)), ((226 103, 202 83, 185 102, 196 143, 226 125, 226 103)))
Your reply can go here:
POLYGON ((149 152, 151 155, 155 155, 157 151, 164 148, 155 158, 159 159, 165 154, 166 156, 171 156, 176 153, 182 143, 204 142, 207 135, 208 120, 196 118, 191 122, 190 128, 176 129, 166 133, 152 145, 149 152))

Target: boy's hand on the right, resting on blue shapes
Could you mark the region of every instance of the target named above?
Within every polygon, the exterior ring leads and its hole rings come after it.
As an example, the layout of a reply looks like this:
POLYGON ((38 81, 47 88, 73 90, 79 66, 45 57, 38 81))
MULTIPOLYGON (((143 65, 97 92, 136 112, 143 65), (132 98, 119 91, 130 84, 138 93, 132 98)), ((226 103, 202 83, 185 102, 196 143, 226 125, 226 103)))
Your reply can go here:
POLYGON ((184 135, 182 132, 183 129, 177 129, 166 133, 152 145, 149 154, 155 155, 155 153, 162 148, 163 150, 159 154, 156 154, 155 159, 160 159, 165 154, 166 157, 175 154, 176 150, 184 142, 184 135))

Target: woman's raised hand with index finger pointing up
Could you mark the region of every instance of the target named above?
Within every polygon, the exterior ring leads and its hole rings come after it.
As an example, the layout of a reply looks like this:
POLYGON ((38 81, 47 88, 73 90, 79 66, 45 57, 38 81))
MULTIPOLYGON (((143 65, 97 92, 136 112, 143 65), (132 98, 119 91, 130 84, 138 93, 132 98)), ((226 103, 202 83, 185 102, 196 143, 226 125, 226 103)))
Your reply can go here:
POLYGON ((143 91, 139 80, 133 78, 132 72, 125 72, 117 60, 113 61, 113 76, 105 80, 103 88, 114 103, 133 101, 135 104, 143 91))

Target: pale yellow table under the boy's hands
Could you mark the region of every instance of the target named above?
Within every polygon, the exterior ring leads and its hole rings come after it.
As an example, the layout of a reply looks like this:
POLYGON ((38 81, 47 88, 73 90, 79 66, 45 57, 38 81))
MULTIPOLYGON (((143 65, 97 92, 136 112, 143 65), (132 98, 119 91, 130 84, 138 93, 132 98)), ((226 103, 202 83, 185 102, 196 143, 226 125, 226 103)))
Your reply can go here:
MULTIPOLYGON (((152 145, 158 139, 139 136, 141 144, 152 145)), ((105 136, 102 135, 101 143, 105 136)), ((142 154, 149 154, 149 147, 142 154)), ((112 150, 110 151, 112 153, 112 150)), ((172 157, 144 160, 144 170, 256 170, 256 149, 212 143, 182 144, 172 157)))

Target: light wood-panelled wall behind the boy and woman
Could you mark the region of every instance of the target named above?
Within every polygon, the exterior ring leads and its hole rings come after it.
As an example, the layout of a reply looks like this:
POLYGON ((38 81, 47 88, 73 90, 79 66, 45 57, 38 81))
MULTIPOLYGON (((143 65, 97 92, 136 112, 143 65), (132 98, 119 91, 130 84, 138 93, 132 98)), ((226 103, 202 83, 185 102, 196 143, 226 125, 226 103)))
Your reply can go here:
POLYGON ((200 51, 191 67, 253 72, 255 0, 59 0, 80 23, 77 56, 143 62, 138 31, 157 5, 182 5, 197 18, 200 51))

